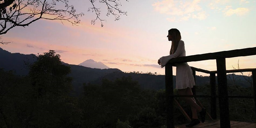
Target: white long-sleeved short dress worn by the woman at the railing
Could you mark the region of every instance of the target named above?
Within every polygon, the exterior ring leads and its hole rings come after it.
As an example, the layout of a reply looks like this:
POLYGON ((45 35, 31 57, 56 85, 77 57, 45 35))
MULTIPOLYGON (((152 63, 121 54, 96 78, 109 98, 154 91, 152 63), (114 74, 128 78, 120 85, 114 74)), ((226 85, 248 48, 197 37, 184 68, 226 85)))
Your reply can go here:
MULTIPOLYGON (((180 40, 177 50, 168 56, 163 56, 160 58, 161 68, 165 66, 165 64, 171 60, 172 58, 186 56, 185 44, 184 41, 180 40)), ((195 84, 194 76, 192 70, 188 63, 180 63, 176 66, 176 89, 184 89, 184 88, 193 88, 195 84)))

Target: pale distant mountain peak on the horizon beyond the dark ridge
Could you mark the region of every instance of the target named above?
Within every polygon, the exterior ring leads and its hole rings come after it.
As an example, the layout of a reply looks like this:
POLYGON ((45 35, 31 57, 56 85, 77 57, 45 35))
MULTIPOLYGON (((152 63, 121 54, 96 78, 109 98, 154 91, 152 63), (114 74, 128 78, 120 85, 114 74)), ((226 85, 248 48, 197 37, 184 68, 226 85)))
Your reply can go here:
POLYGON ((103 64, 102 62, 96 62, 92 59, 85 60, 83 63, 80 63, 78 65, 88 67, 88 68, 99 68, 99 69, 108 69, 109 67, 103 64))

